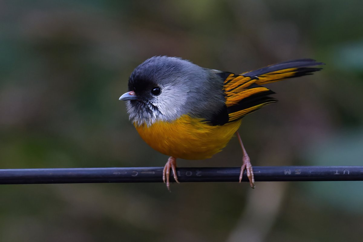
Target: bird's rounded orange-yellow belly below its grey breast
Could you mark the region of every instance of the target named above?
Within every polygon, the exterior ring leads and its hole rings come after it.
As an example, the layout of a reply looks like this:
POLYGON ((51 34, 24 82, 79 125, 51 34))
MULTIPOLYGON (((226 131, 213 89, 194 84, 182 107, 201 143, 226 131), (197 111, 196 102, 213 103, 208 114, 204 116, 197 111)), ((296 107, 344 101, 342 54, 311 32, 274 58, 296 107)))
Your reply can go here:
MULTIPOLYGON (((135 124, 134 124, 135 125, 135 124)), ((172 122, 158 121, 136 126, 143 140, 160 153, 187 160, 212 157, 224 148, 241 125, 241 120, 211 126, 201 119, 183 115, 172 122)))

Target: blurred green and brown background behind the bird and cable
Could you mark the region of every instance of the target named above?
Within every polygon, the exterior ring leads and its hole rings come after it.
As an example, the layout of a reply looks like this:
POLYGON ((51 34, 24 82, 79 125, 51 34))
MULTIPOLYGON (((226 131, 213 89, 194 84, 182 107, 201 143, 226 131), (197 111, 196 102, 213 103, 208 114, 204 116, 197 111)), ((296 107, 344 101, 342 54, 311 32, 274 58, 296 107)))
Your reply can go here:
MULTIPOLYGON (((242 73, 296 58, 244 119, 253 165, 363 165, 363 1, 0 1, 0 168, 163 166, 128 120, 155 55, 242 73)), ((180 167, 241 165, 223 152, 180 167)), ((362 182, 1 185, 0 241, 360 241, 362 182)))

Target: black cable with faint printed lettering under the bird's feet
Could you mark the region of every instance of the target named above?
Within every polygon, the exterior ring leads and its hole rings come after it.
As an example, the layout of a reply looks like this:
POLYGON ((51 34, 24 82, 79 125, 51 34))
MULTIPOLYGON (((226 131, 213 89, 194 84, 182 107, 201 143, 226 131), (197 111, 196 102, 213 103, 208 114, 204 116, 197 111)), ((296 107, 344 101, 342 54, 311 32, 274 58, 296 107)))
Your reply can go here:
MULTIPOLYGON (((0 184, 162 182, 163 167, 0 169, 0 184)), ((256 181, 363 181, 362 166, 253 167, 256 181)), ((180 182, 237 182, 240 167, 177 168, 180 182)), ((172 175, 171 181, 174 181, 172 175)), ((246 172, 242 181, 247 181, 246 172)))

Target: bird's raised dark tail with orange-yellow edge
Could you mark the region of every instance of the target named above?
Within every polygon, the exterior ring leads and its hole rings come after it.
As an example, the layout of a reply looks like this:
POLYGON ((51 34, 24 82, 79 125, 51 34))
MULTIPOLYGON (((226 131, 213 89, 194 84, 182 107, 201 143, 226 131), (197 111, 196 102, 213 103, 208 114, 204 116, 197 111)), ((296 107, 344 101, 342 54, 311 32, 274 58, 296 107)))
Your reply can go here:
POLYGON ((264 68, 242 73, 245 77, 255 77, 255 83, 265 85, 272 82, 281 81, 286 78, 301 77, 303 75, 311 75, 314 71, 322 68, 310 67, 317 65, 325 65, 322 62, 316 62, 312 59, 299 59, 293 61, 281 62, 275 65, 266 66, 264 68))

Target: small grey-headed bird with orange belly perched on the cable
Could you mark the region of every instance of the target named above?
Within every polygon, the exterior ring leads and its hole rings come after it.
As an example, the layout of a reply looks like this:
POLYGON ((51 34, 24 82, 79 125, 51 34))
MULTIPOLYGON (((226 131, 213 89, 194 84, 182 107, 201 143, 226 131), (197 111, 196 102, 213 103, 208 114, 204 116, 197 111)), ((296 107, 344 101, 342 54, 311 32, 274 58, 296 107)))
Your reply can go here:
POLYGON ((129 119, 141 138, 170 156, 162 177, 168 190, 171 172, 180 183, 176 159, 211 158, 234 135, 242 149, 239 182, 246 170, 254 188, 253 167, 238 133, 242 118, 277 102, 265 84, 313 74, 322 69, 314 67, 318 65, 325 64, 298 59, 234 74, 179 57, 154 56, 132 71, 128 91, 119 100, 126 102, 129 119))

